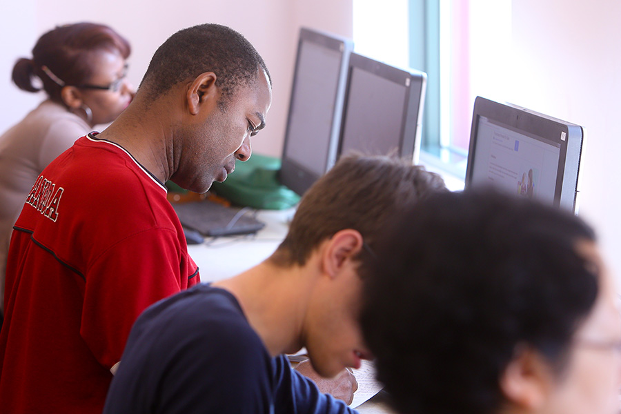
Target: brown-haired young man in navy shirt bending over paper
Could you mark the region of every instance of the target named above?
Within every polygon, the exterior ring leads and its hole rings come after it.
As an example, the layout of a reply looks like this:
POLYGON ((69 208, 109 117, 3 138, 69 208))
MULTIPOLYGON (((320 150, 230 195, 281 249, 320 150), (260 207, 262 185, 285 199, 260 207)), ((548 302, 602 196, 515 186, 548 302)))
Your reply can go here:
POLYGON ((351 413, 290 368, 305 347, 333 377, 368 353, 359 324, 370 255, 389 217, 440 176, 389 157, 344 157, 302 197, 264 262, 150 306, 137 320, 104 413, 351 413))

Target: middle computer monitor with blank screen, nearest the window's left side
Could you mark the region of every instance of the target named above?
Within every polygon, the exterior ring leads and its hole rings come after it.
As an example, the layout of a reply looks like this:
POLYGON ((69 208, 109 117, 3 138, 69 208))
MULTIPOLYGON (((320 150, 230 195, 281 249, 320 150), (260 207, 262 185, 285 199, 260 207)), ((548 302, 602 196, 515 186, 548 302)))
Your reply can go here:
POLYGON ((339 156, 351 150, 418 161, 427 75, 352 53, 339 156))

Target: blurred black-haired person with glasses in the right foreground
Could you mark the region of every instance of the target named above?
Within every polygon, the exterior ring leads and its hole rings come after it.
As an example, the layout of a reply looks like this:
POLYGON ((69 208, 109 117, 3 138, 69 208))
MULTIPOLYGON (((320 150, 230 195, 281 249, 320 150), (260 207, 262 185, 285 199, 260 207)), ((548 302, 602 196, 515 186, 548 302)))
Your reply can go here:
POLYGON ((391 221, 362 326, 399 413, 619 412, 621 316, 584 221, 491 190, 391 221))

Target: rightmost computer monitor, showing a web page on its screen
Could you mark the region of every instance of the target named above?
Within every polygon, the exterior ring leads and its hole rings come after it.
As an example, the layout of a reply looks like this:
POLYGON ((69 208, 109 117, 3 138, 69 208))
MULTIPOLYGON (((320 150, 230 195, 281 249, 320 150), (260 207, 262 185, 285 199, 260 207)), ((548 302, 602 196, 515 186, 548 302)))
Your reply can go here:
POLYGON ((578 213, 582 127, 475 99, 466 188, 491 185, 578 213))

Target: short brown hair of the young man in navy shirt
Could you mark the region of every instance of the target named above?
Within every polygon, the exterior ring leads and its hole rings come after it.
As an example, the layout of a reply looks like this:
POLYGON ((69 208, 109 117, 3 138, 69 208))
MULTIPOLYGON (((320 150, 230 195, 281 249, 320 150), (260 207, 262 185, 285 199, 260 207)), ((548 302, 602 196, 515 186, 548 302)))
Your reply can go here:
POLYGON ((272 259, 282 266, 302 266, 319 244, 345 228, 359 231, 373 248, 388 217, 437 190, 446 190, 442 177, 411 161, 359 154, 342 157, 304 194, 272 259))

